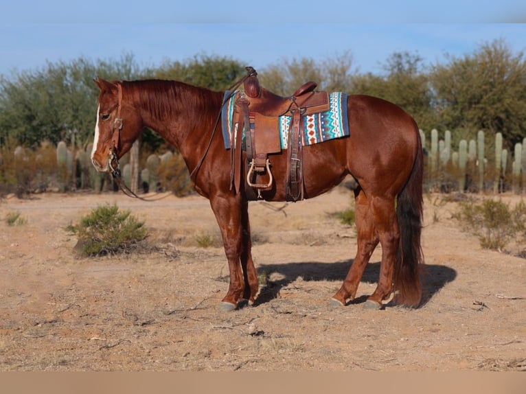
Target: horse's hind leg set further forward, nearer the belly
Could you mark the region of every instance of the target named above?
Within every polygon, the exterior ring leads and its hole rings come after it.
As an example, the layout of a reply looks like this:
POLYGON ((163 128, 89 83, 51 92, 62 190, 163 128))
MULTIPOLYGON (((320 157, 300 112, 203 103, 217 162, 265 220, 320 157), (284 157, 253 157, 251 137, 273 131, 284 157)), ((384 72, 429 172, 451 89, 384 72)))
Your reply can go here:
POLYGON ((361 188, 354 192, 356 205, 354 208, 354 222, 358 234, 358 249, 352 266, 345 277, 345 281, 332 297, 331 303, 345 305, 347 300, 356 297, 358 284, 362 279, 365 267, 378 244, 378 234, 374 226, 374 218, 371 212, 369 200, 361 188))

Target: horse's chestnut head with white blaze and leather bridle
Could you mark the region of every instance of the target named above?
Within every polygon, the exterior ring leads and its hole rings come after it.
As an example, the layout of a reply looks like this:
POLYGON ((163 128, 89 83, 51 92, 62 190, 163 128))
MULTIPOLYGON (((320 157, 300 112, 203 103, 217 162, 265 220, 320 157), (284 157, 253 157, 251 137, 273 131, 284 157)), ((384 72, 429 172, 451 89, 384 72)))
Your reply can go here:
POLYGON ((91 161, 100 172, 115 172, 142 130, 142 121, 129 101, 123 100, 122 83, 94 80, 100 89, 91 161))

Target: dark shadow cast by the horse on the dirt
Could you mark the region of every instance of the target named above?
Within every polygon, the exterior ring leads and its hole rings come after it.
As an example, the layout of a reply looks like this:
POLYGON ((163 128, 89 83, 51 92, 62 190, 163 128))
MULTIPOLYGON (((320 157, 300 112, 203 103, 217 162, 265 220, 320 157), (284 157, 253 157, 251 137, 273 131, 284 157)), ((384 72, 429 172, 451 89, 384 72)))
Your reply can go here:
MULTIPOLYGON (((353 259, 331 264, 320 262, 263 264, 258 268, 260 276, 278 273, 282 275, 282 279, 267 281, 266 285, 262 286, 260 294, 255 300, 255 305, 261 305, 275 299, 282 288, 288 286, 299 277, 304 281, 343 281, 352 262, 354 262, 353 259)), ((422 268, 422 301, 419 307, 428 303, 433 298, 433 295, 457 277, 457 271, 448 266, 426 264, 422 268)), ((367 268, 365 268, 361 282, 376 283, 379 275, 380 262, 369 263, 367 268)), ((351 303, 363 303, 366 300, 367 296, 361 296, 351 301, 351 303)), ((387 306, 390 305, 388 304, 387 306)))

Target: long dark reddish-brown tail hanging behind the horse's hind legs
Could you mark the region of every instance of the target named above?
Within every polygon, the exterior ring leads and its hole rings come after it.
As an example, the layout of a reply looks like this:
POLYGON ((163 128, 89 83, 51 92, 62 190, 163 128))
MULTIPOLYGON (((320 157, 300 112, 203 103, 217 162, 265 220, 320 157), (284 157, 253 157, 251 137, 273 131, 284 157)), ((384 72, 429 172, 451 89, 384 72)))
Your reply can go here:
POLYGON ((424 255, 420 244, 422 233, 422 181, 424 161, 420 132, 415 124, 418 138, 417 154, 409 179, 398 194, 396 217, 400 226, 400 244, 396 254, 394 272, 395 301, 409 307, 417 307, 422 299, 420 264, 424 255))

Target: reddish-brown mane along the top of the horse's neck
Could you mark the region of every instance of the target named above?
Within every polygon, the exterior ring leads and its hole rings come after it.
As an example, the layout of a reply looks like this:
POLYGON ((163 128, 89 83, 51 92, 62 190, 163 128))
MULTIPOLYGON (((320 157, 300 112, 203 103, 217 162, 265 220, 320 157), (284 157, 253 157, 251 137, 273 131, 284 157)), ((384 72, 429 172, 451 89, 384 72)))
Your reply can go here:
POLYGON ((198 111, 205 108, 219 111, 222 93, 174 80, 122 81, 123 90, 144 110, 159 119, 171 117, 176 111, 198 111))

